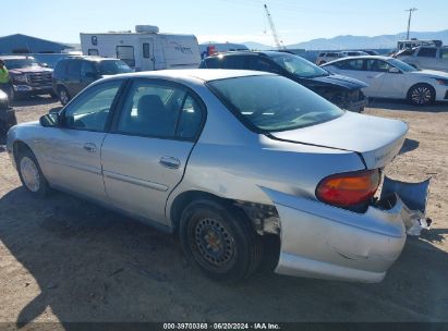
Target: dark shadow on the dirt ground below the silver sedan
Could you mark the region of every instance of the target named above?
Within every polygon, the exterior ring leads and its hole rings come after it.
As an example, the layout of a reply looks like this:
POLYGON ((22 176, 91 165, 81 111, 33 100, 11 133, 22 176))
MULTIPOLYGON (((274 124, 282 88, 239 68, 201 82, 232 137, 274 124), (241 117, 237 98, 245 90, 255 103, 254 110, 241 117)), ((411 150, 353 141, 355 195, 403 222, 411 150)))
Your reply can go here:
MULTIPOLYGON (((171 235, 77 198, 37 199, 15 188, 0 199, 0 241, 8 248, 1 254, 11 254, 40 289, 24 302, 19 327, 47 307, 62 322, 447 320, 448 256, 433 245, 446 233, 409 240, 379 284, 288 278, 264 268, 231 285, 191 267, 171 235)), ((0 269, 0 279, 8 277, 0 269)), ((8 289, 5 302, 25 287, 8 289)))

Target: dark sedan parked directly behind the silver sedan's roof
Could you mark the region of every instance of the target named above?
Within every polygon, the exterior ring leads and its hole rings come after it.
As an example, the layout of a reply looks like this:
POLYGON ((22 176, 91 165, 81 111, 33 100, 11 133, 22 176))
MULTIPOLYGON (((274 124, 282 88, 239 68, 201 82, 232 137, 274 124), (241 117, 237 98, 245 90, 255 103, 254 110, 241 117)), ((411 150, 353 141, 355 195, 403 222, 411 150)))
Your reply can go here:
POLYGON ((199 68, 244 69, 276 73, 302 84, 340 108, 355 112, 363 111, 368 101, 362 91, 362 88, 367 86, 363 82, 341 75, 330 75, 314 63, 288 52, 221 53, 204 59, 199 68))

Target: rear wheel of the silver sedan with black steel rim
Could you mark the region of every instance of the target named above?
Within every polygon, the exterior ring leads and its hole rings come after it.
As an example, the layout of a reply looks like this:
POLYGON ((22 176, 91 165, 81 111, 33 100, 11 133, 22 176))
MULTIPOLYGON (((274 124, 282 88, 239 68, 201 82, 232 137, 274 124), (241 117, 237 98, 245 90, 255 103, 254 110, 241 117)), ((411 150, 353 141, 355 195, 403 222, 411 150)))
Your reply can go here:
POLYGON ((261 237, 231 205, 211 199, 191 203, 182 212, 179 234, 189 260, 215 280, 247 279, 262 259, 261 237))

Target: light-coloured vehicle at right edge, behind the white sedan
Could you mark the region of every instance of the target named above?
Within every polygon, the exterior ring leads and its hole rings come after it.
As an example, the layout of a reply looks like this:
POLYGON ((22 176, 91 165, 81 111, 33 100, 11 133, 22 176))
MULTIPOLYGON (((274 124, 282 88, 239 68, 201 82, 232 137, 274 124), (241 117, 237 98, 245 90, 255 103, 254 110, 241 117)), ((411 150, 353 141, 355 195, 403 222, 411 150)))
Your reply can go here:
POLYGON ((448 47, 416 47, 404 49, 393 56, 416 69, 448 72, 448 47))

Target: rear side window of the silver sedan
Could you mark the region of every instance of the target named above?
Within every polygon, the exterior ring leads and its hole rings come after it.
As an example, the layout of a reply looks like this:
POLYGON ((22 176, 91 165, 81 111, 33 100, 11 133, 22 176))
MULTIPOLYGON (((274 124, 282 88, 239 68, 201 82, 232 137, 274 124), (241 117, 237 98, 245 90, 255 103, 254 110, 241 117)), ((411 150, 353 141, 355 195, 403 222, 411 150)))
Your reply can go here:
POLYGON ((191 139, 202 123, 202 109, 187 90, 170 84, 134 82, 117 132, 157 138, 191 139))

